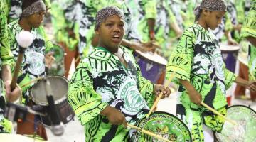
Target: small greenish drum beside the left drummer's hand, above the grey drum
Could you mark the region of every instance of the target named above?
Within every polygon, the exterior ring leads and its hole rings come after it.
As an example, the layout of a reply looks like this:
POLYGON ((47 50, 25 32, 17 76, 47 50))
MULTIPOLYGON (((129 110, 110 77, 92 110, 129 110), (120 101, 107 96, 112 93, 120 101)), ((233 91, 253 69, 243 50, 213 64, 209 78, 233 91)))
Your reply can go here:
POLYGON ((65 52, 63 48, 59 45, 53 44, 53 48, 50 49, 50 52, 53 52, 53 57, 55 58, 55 62, 50 69, 47 69, 47 75, 64 75, 64 55, 65 52))

